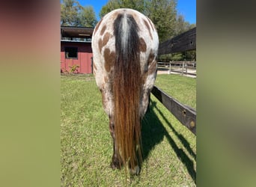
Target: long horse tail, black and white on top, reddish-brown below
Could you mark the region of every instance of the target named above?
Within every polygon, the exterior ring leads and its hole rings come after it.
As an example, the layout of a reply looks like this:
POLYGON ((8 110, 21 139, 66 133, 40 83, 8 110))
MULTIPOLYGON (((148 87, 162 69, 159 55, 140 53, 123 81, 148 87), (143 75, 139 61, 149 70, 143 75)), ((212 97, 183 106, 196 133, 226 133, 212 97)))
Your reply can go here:
POLYGON ((141 66, 138 25, 132 15, 120 13, 114 22, 114 124, 119 159, 137 172, 141 161, 141 66), (138 151, 138 158, 137 153, 138 151))

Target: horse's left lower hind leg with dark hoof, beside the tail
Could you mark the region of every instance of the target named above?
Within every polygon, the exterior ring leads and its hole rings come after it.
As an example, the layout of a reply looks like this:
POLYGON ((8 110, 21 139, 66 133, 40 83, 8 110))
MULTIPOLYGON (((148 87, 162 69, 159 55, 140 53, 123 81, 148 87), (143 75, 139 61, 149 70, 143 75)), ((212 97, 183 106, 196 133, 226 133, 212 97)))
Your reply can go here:
POLYGON ((110 164, 110 167, 114 169, 121 169, 121 166, 123 163, 121 162, 120 159, 120 154, 118 152, 117 144, 115 142, 115 133, 114 133, 114 122, 112 120, 112 117, 109 117, 109 132, 112 135, 113 138, 113 156, 112 156, 112 162, 110 164))

